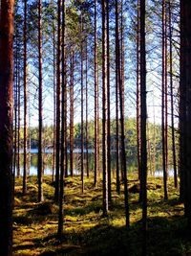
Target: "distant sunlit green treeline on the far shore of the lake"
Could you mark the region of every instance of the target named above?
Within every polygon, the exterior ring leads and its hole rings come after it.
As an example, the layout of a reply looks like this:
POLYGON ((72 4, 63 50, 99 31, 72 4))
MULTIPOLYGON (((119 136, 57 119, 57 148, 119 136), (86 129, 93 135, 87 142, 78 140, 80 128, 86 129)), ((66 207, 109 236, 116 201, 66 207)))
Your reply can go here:
MULTIPOLYGON (((101 126, 101 121, 100 126, 101 126)), ((90 121, 88 124, 88 148, 94 149, 95 144, 95 122, 90 121)), ((32 149, 37 149, 38 147, 38 128, 28 128, 29 138, 28 145, 31 144, 32 149), (30 142, 31 140, 31 142, 30 142)), ((85 133, 85 130, 84 130, 85 133)), ((171 133, 171 128, 169 128, 168 133, 171 133)), ((155 157, 160 161, 162 144, 161 144, 161 127, 159 125, 155 125, 153 123, 147 124, 147 134, 148 134, 148 156, 153 159, 155 157)), ((70 131, 68 129, 68 138, 70 135, 70 131)), ((127 118, 125 119, 125 140, 126 140, 126 151, 127 157, 136 159, 137 158, 137 125, 135 118, 127 118)), ((101 148, 101 132, 99 134, 100 148, 101 148)), ((115 153, 116 151, 116 120, 113 119, 111 121, 111 151, 115 153)), ((178 141, 178 140, 177 140, 178 141)), ((23 146, 23 129, 21 128, 21 140, 20 147, 23 146)), ((86 141, 84 141, 84 146, 86 146, 86 141)), ((43 128, 43 147, 44 148, 53 148, 53 126, 44 126, 43 128)), ((74 148, 78 149, 81 147, 81 124, 77 123, 74 125, 74 148)), ((68 149, 70 148, 70 144, 68 144, 68 149)), ((169 140, 168 144, 169 151, 169 164, 172 160, 172 144, 169 140)))

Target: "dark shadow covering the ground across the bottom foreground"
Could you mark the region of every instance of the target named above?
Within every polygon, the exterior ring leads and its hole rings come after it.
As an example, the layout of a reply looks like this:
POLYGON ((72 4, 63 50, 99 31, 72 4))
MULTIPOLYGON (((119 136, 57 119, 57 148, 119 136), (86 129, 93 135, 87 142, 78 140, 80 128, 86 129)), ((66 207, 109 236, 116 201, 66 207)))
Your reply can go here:
MULTIPOLYGON (((148 218, 147 256, 182 256, 191 248, 191 232, 183 217, 148 218)), ((64 232, 63 242, 56 234, 33 239, 33 244, 18 244, 20 249, 42 248, 40 255, 67 256, 140 256, 142 248, 141 221, 133 223, 129 230, 125 226, 113 226, 109 222, 99 223, 89 229, 64 232), (50 249, 51 248, 51 249, 50 249)))

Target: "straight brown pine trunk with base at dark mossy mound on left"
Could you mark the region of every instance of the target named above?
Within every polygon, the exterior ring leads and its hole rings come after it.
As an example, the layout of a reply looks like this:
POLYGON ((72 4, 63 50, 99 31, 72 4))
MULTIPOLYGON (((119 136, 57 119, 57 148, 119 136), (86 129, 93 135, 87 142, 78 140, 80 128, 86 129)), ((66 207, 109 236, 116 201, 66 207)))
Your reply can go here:
POLYGON ((42 159, 42 0, 38 1, 38 201, 43 201, 42 159))

